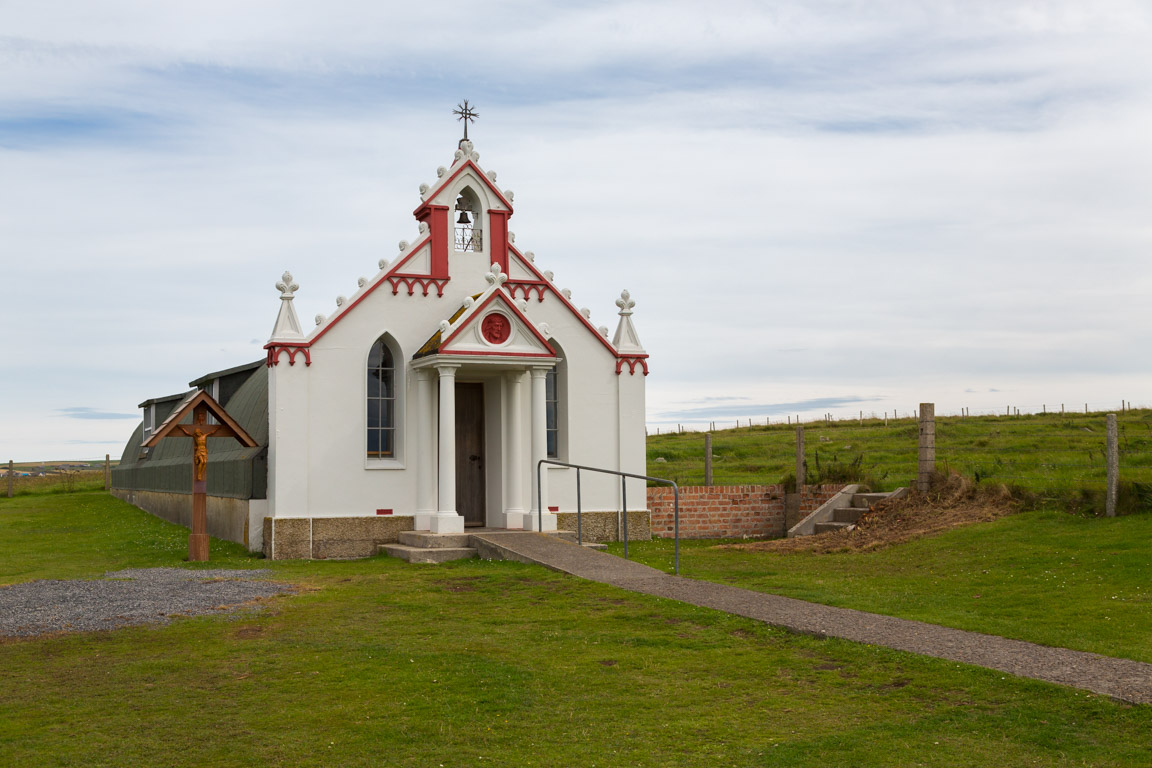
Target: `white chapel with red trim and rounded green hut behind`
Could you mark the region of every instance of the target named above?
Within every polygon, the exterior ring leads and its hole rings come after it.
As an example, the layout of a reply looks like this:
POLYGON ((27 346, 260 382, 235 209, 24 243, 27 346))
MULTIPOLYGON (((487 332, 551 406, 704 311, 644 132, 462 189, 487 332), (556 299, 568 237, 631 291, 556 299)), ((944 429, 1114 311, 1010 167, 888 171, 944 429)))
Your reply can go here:
MULTIPOLYGON (((516 246, 495 180, 460 142, 420 185, 415 242, 309 329, 285 273, 265 359, 191 382, 262 441, 209 451, 210 533, 275 558, 362 556, 403 530, 573 527, 574 470, 541 459, 644 474, 635 303, 616 299, 613 335, 593 325, 516 246)), ((141 446, 181 396, 142 403, 113 481, 176 522, 185 441, 141 446)), ((585 473, 579 503, 611 520, 645 496, 643 481, 585 473)))

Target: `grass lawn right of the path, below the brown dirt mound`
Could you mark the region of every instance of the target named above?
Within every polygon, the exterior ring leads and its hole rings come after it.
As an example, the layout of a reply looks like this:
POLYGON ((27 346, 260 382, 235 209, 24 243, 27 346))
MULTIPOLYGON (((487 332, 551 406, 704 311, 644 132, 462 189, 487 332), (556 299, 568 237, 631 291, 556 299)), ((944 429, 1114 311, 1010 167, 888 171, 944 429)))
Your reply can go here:
MULTIPOLYGON (((681 575, 1152 662, 1152 515, 1031 510, 867 553, 715 543, 682 541, 681 575)), ((632 542, 629 555, 669 570, 672 546, 632 542)))

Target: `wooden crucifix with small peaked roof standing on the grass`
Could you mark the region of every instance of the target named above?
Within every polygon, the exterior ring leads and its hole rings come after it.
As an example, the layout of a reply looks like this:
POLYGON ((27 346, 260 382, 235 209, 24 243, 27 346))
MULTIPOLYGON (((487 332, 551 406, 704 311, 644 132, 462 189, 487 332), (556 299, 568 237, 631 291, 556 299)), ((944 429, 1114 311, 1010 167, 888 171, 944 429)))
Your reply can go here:
POLYGON ((192 532, 188 535, 188 560, 203 562, 209 558, 209 438, 235 438, 245 448, 259 443, 203 389, 188 393, 144 447, 152 448, 165 438, 192 439, 192 532), (189 413, 192 423, 181 424, 189 413), (215 424, 209 424, 209 416, 215 424))

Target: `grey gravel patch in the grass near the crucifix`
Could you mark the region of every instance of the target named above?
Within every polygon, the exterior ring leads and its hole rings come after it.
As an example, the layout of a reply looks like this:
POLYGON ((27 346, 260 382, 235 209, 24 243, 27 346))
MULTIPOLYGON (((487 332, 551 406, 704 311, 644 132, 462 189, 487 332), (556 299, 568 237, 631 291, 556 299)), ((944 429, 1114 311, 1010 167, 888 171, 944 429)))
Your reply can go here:
POLYGON ((252 600, 291 591, 260 580, 267 570, 141 568, 104 579, 40 580, 0 586, 0 636, 114 630, 167 624, 177 616, 237 610, 252 600))

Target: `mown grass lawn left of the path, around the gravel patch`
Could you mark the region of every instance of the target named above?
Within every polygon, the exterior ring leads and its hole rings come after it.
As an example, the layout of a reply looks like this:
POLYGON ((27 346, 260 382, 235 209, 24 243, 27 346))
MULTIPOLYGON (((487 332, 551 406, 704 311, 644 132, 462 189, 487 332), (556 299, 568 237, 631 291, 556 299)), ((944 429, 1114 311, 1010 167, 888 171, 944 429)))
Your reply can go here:
MULTIPOLYGON (((0 584, 184 565, 185 547, 103 493, 0 499, 0 584)), ((1147 765, 1152 707, 520 563, 266 562, 213 541, 209 565, 301 591, 0 642, 0 765, 1147 765)))

